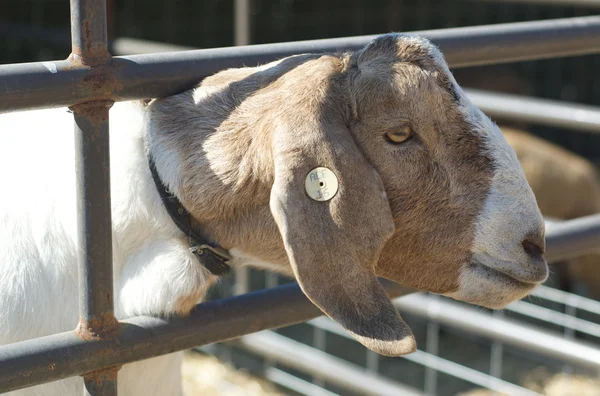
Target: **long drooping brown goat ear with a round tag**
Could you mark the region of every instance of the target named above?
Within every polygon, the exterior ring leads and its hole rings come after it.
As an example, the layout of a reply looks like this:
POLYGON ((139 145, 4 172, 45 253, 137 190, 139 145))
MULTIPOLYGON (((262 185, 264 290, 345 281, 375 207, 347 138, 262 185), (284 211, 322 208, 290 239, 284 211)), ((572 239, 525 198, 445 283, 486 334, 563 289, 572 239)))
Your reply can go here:
POLYGON ((280 128, 273 147, 271 212, 304 293, 367 348, 388 356, 414 352, 414 336, 374 271, 394 232, 389 203, 350 131, 306 117, 293 130, 280 128), (330 199, 307 191, 317 167, 331 172, 330 199))

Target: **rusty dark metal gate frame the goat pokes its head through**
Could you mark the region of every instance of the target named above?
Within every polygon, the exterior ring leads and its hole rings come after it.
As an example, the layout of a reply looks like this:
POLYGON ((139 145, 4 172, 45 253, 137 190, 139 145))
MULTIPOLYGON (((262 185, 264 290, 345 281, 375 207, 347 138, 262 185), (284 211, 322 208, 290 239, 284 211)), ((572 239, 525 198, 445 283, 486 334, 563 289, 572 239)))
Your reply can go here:
MULTIPOLYGON (((431 39, 452 67, 600 53, 600 17, 555 19, 415 32, 431 39)), ((200 304, 185 319, 113 312, 108 115, 114 101, 181 92, 228 67, 303 52, 364 46, 374 36, 113 58, 106 0, 71 0, 67 60, 0 66, 0 113, 70 106, 74 113, 81 243, 80 321, 71 332, 0 347, 0 392, 81 375, 84 394, 116 395, 122 364, 299 323, 321 315, 297 285, 200 304), (272 301, 277 301, 273 305, 272 301)), ((600 215, 569 221, 547 235, 549 261, 597 247, 600 215)), ((390 296, 412 290, 382 280, 390 296)))

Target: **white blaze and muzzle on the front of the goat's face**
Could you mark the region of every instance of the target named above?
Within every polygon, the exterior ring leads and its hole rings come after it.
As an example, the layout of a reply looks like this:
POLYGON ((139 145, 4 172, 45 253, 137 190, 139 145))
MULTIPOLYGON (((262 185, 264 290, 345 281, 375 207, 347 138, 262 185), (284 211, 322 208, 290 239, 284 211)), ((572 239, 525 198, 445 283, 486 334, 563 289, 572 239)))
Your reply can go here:
MULTIPOLYGON (((456 90, 461 92, 457 85, 456 90)), ((473 304, 503 307, 548 277, 545 262, 529 257, 522 245, 525 239, 543 244, 544 219, 519 160, 500 129, 464 93, 461 102, 463 114, 484 134, 494 173, 472 246, 473 256, 483 258, 477 261, 487 268, 465 265, 458 290, 449 295, 473 304)))

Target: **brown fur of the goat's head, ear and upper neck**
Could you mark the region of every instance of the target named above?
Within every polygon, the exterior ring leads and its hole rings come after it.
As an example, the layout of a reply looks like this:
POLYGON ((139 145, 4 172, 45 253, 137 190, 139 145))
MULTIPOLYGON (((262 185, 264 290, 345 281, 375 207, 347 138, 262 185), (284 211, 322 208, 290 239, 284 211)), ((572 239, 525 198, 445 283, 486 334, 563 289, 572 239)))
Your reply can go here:
POLYGON ((388 35, 355 54, 228 70, 201 87, 209 94, 197 103, 189 91, 150 105, 151 140, 179 153, 175 192, 210 238, 291 267, 369 348, 414 350, 376 275, 454 291, 493 173, 431 47, 388 35), (386 141, 406 124, 411 140, 386 141), (304 191, 317 166, 339 179, 327 202, 304 191))

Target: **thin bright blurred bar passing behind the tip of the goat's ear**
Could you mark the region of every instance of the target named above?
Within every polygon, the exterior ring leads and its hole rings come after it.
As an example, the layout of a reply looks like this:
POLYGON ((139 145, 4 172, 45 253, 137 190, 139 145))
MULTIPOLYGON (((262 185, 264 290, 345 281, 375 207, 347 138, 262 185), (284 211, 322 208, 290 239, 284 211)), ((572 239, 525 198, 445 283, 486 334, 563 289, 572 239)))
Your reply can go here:
MULTIPOLYGON (((406 296, 409 297, 409 296, 406 296)), ((431 296, 433 297, 436 296, 431 296)), ((315 326, 319 329, 326 330, 330 333, 337 334, 341 337, 352 339, 352 337, 346 332, 340 325, 333 322, 332 320, 324 317, 316 318, 308 322, 308 324, 315 326)), ((245 338, 245 337, 244 337, 245 338)), ((523 396, 535 396, 538 395, 528 389, 514 385, 510 382, 503 381, 499 378, 492 377, 489 374, 482 373, 477 370, 470 369, 465 366, 461 366, 458 363, 442 359, 432 353, 417 350, 415 353, 410 355, 402 356, 403 359, 410 360, 417 364, 425 367, 435 369, 435 371, 442 372, 444 374, 451 375, 455 378, 470 382, 475 385, 486 387, 495 392, 507 395, 523 395, 523 396)), ((433 392, 435 393, 435 392, 433 392)))

